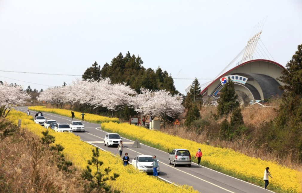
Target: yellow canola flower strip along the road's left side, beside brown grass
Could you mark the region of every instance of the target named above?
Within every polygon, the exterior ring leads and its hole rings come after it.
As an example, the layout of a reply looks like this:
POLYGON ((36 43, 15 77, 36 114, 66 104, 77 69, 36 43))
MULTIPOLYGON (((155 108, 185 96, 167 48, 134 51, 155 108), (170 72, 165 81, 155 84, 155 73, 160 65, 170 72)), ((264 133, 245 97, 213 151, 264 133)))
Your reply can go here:
MULTIPOLYGON (((31 116, 27 116, 25 113, 11 111, 7 117, 8 120, 13 121, 14 124, 18 124, 18 119, 22 119, 21 128, 27 129, 38 137, 42 137, 42 131, 46 130, 44 127, 35 124, 31 116)), ((61 144, 65 149, 63 150, 66 158, 73 162, 74 165, 85 169, 87 161, 91 159, 92 149, 95 147, 80 140, 73 133, 59 133, 53 130, 49 130, 50 135, 55 137, 55 144, 61 144)), ((119 157, 119 156, 118 156, 119 157)), ((102 168, 110 167, 111 175, 113 172, 120 176, 116 181, 108 182, 114 189, 119 190, 122 193, 129 192, 165 192, 165 193, 198 193, 190 186, 175 186, 153 176, 145 173, 137 172, 131 165, 124 167, 122 160, 116 156, 113 156, 109 152, 101 151, 100 161, 104 164, 102 168)), ((91 167, 94 169, 93 167, 91 167)), ((92 171, 95 172, 95 171, 92 171)))

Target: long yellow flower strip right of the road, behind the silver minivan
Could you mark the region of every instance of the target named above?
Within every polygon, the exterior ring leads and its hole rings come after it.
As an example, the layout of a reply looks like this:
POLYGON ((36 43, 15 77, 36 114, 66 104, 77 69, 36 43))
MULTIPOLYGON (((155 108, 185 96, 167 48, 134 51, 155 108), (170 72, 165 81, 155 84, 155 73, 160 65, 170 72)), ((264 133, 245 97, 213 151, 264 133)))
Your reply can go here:
POLYGON ((214 168, 221 171, 228 171, 241 179, 247 179, 253 183, 263 184, 263 175, 266 167, 270 168, 273 179, 270 185, 283 192, 300 193, 301 172, 278 165, 271 161, 261 160, 246 156, 231 149, 204 145, 191 140, 186 140, 177 136, 172 136, 160 131, 148 130, 143 127, 122 123, 103 123, 103 130, 119 133, 123 137, 135 139, 150 146, 164 151, 175 148, 188 149, 194 159, 195 152, 201 148, 203 153, 202 161, 207 162, 214 168))

